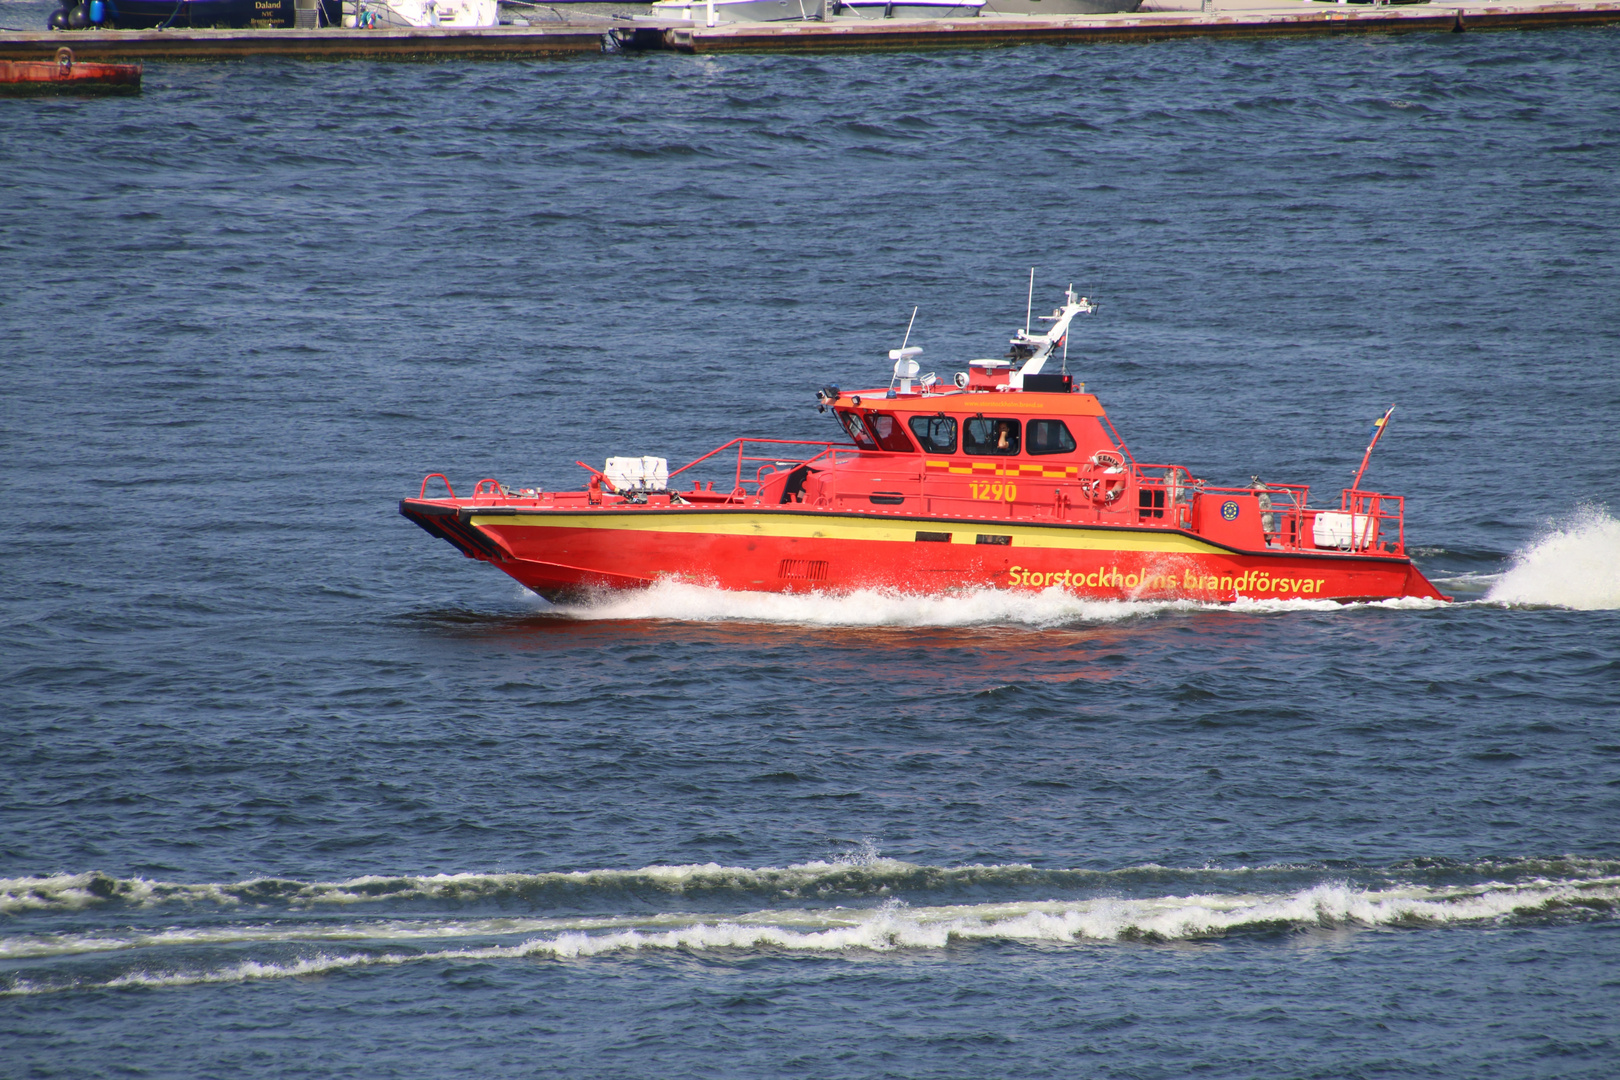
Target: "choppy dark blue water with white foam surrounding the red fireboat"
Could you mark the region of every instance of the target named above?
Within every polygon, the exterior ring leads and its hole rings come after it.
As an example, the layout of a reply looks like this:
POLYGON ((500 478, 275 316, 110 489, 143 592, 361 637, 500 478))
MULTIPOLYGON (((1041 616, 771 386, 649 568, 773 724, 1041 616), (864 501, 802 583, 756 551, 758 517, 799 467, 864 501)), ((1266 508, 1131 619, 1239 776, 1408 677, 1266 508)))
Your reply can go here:
POLYGON ((0 102, 0 1074, 1612 1077, 1620 34, 0 102), (424 473, 831 437, 1071 280, 1455 606, 554 609, 424 473))

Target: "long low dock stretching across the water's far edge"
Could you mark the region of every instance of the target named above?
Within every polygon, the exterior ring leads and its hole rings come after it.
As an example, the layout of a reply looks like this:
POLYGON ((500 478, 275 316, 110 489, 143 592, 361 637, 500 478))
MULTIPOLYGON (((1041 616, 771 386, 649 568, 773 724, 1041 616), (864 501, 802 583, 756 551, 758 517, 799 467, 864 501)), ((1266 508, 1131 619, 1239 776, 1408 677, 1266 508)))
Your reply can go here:
POLYGON ((39 60, 71 45, 84 60, 227 60, 241 57, 355 60, 499 60, 637 49, 716 52, 873 52, 993 49, 1027 44, 1400 34, 1620 23, 1620 0, 1597 3, 1418 3, 1319 0, 1147 0, 1142 11, 1081 16, 985 15, 962 19, 838 16, 825 23, 651 23, 590 19, 489 29, 78 31, 0 34, 0 60, 39 60), (1178 5, 1183 10, 1178 10, 1178 5))

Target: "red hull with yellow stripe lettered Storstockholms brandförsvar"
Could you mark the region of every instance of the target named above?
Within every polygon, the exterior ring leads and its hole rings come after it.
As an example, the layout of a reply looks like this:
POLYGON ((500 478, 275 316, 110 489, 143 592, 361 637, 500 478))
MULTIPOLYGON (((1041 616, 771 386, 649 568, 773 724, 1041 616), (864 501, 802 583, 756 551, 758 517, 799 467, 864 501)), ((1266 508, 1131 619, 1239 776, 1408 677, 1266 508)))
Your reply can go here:
POLYGON ((1403 555, 1239 551, 1184 529, 774 507, 400 513, 548 599, 676 580, 763 593, 1064 589, 1092 599, 1445 599, 1403 555))

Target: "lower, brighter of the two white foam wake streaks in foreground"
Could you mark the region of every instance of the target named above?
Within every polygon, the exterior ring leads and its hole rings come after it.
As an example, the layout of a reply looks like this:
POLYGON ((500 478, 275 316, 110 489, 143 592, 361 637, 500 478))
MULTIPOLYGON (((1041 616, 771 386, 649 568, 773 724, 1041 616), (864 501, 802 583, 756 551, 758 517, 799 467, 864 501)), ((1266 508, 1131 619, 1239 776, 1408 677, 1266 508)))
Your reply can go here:
MULTIPOLYGON (((1095 942, 1174 942, 1233 933, 1302 933, 1312 929, 1440 928, 1497 925, 1511 918, 1612 918, 1620 905, 1620 878, 1588 881, 1487 882, 1450 887, 1359 889, 1320 882, 1285 894, 1192 894, 1162 897, 1095 897, 1089 900, 1021 900, 907 907, 888 900, 870 908, 760 910, 735 916, 700 913, 567 920, 535 925, 525 920, 399 921, 308 926, 211 928, 190 936, 168 929, 147 939, 100 934, 68 944, 63 952, 133 950, 122 970, 105 975, 31 975, 13 980, 0 996, 100 988, 159 988, 313 976, 347 968, 468 960, 585 960, 604 955, 659 952, 787 952, 823 955, 881 955, 897 950, 943 950, 953 944, 1003 942, 1076 947, 1095 942), (539 929, 541 933, 535 933, 539 929), (186 962, 185 946, 238 947, 308 946, 319 938, 347 939, 342 952, 316 950, 296 957, 233 959, 209 965, 186 962), (489 941, 492 936, 504 942, 489 941), (462 944, 467 938, 483 944, 462 944), (402 939, 439 944, 402 949, 402 939), (157 955, 146 959, 143 952, 157 955)), ((42 946, 47 939, 36 939, 42 946)), ((0 950, 3 955, 3 950, 0 950)), ((47 955, 42 947, 32 954, 47 955)))

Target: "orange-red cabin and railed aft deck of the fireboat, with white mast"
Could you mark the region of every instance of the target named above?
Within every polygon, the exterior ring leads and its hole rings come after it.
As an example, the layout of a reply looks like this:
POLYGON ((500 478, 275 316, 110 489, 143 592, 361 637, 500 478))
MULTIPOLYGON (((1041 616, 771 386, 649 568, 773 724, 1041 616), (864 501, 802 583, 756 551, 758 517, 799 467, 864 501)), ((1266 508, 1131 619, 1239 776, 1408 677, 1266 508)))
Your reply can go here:
MULTIPOLYGON (((1072 288, 1066 300, 1045 316, 1053 322, 1047 334, 1025 327, 1008 359, 975 359, 951 384, 919 379, 920 350, 901 348, 889 353, 896 363, 888 389, 823 387, 821 408, 838 418, 855 450, 829 449, 776 471, 766 466, 760 504, 1189 529, 1244 551, 1401 549, 1400 505, 1392 497, 1362 507, 1346 502, 1348 513, 1307 512, 1304 484, 1256 479, 1217 489, 1181 466, 1136 461, 1084 384, 1043 371, 1064 347, 1074 316, 1092 311, 1072 288), (1395 525, 1393 536, 1379 536, 1383 520, 1395 525)), ((978 541, 987 536, 995 538, 978 541)))

